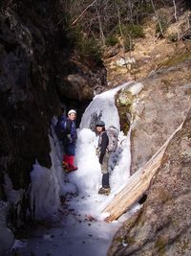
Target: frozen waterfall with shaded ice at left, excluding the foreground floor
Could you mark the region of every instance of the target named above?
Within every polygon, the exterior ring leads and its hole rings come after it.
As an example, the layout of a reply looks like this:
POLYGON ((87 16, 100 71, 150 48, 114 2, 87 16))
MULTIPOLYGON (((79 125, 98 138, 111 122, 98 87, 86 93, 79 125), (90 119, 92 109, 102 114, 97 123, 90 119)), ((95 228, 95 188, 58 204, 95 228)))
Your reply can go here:
POLYGON ((59 197, 68 193, 78 194, 78 197, 71 202, 73 207, 78 207, 79 211, 83 208, 83 212, 98 216, 104 204, 114 198, 117 191, 125 186, 130 175, 130 142, 129 136, 125 136, 120 131, 117 151, 111 157, 109 165, 112 193, 108 198, 97 194, 101 183, 101 172, 96 156, 97 137, 95 132, 91 130, 91 126, 94 126, 96 120, 100 119, 105 122, 106 128, 115 126, 119 129, 115 94, 117 90, 127 86, 127 84, 124 83, 115 89, 96 95, 92 103, 86 108, 80 128, 77 130, 75 161, 78 170, 72 174, 66 175, 62 170, 62 152, 52 128, 52 136, 50 136, 52 168, 47 169, 36 162, 31 173, 31 201, 34 219, 55 215, 60 207, 59 197), (87 195, 90 196, 83 202, 79 199, 87 195), (97 199, 99 203, 95 207, 97 199))

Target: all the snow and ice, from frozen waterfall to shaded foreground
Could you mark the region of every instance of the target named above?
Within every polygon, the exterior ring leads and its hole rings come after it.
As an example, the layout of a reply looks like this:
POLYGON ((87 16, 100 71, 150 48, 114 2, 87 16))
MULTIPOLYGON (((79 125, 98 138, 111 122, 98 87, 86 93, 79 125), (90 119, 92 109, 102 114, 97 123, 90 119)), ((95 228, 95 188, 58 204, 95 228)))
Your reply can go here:
POLYGON ((101 172, 96 156, 97 137, 90 129, 94 118, 119 128, 119 119, 114 96, 122 84, 111 91, 97 95, 87 107, 78 129, 76 144, 76 165, 78 170, 64 175, 61 170, 61 151, 52 130, 51 170, 36 163, 32 171, 32 207, 38 219, 52 216, 54 224, 51 228, 39 228, 28 240, 16 240, 14 247, 7 256, 18 253, 20 256, 106 256, 115 232, 132 212, 117 221, 107 223, 101 211, 115 195, 126 185, 130 170, 130 135, 119 132, 117 151, 110 160, 111 195, 98 195, 101 186, 101 172), (59 205, 58 197, 64 195, 63 205, 59 205), (44 199, 43 199, 44 198, 44 199), (41 203, 40 203, 41 201, 41 203), (59 209, 59 220, 55 213, 59 209))

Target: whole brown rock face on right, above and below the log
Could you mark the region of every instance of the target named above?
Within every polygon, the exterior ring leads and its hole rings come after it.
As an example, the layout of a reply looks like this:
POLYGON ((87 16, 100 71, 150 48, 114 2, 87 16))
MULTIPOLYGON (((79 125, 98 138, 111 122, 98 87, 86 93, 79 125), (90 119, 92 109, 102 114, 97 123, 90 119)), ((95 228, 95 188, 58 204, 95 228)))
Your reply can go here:
MULTIPOLYGON (((191 61, 181 58, 117 95, 123 128, 129 123, 132 128, 132 174, 159 150, 191 107, 191 61)), ((117 232, 108 255, 190 255, 190 125, 191 110, 162 157, 146 202, 117 232)))

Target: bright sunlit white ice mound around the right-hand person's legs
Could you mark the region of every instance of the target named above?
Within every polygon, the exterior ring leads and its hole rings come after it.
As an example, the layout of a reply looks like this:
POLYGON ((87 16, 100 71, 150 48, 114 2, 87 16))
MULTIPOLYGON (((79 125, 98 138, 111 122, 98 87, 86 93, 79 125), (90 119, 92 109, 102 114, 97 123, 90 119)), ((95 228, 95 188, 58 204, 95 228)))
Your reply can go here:
POLYGON ((95 132, 88 128, 79 131, 76 151, 78 171, 70 174, 69 180, 77 186, 79 197, 83 200, 76 197, 70 205, 83 214, 88 212, 96 219, 101 219, 101 210, 125 186, 130 175, 129 136, 124 136, 120 132, 118 139, 117 151, 110 160, 111 195, 106 197, 97 194, 99 187, 101 187, 102 175, 96 156, 97 138, 95 132), (81 136, 81 133, 83 136, 81 136), (87 133, 89 136, 86 136, 87 133))

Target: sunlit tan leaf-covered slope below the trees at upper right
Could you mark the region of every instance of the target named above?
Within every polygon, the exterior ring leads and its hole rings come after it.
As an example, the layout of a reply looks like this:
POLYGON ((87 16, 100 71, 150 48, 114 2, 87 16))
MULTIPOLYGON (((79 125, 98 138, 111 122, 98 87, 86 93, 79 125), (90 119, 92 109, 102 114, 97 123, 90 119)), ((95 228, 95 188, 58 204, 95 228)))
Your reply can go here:
POLYGON ((169 60, 191 52, 191 40, 173 42, 168 37, 160 38, 156 35, 156 23, 151 20, 144 24, 143 31, 144 37, 133 41, 133 51, 124 52, 119 47, 115 56, 104 58, 109 86, 146 78, 169 60), (117 64, 118 61, 126 64, 117 64))

